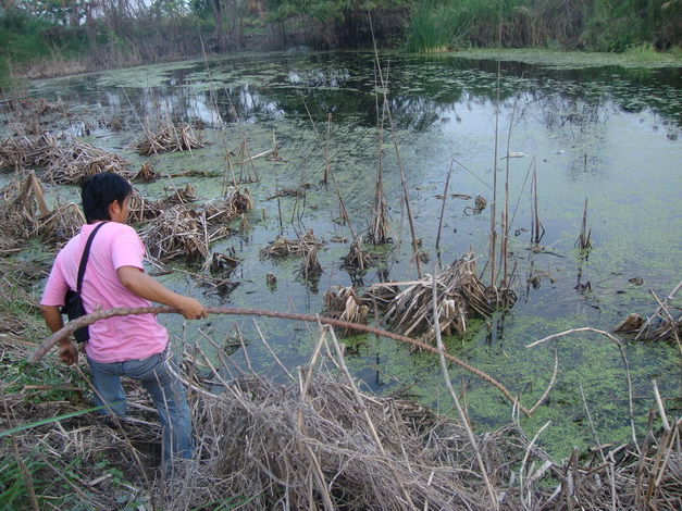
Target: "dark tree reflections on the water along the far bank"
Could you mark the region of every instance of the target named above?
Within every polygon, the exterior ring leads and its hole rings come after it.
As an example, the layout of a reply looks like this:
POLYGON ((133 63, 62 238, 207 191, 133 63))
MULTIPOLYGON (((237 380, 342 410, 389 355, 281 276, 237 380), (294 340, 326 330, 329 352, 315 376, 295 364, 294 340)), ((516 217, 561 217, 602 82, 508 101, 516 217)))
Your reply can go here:
MULTIPOLYGON (((425 132, 443 119, 458 119, 457 112, 472 104, 496 101, 497 63, 493 61, 394 55, 383 65, 393 120, 401 129, 425 132)), ((509 108, 521 95, 523 115, 548 128, 603 123, 607 110, 649 109, 675 134, 682 122, 679 70, 567 71, 518 62, 505 62, 501 67, 501 103, 509 108)), ((168 71, 164 85, 154 87, 111 88, 98 85, 97 76, 90 79, 95 84, 78 88, 97 87, 98 104, 110 115, 133 109, 140 119, 153 119, 169 112, 174 119, 208 126, 271 122, 284 115, 326 122, 330 112, 342 121, 352 117, 376 126, 382 103, 376 98, 381 83, 374 59, 364 53, 214 60, 208 68, 201 63, 168 71)))

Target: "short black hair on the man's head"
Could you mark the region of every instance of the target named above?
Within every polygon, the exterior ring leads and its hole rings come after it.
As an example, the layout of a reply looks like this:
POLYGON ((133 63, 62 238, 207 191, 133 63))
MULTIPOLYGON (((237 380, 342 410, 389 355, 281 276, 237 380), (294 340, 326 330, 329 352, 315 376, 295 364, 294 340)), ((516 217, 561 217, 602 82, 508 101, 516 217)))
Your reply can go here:
POLYGON ((88 176, 83 180, 80 199, 83 213, 88 224, 98 220, 111 220, 109 204, 123 201, 133 191, 133 187, 125 177, 113 172, 101 172, 88 176))

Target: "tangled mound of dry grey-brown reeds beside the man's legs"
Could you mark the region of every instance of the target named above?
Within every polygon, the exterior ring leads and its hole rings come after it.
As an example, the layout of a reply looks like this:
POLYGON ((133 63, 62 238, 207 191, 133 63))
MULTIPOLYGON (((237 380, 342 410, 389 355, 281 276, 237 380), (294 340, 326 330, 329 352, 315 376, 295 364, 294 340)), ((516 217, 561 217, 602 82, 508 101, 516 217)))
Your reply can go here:
POLYGON ((470 468, 466 440, 450 449, 452 458, 461 458, 459 466, 438 460, 439 447, 463 439, 460 428, 436 425, 429 414, 420 421, 420 407, 411 402, 362 396, 321 375, 305 394, 298 383, 283 387, 250 376, 235 381, 221 397, 198 400, 197 433, 209 462, 170 482, 170 509, 234 495, 249 496, 243 503, 249 510, 411 509, 406 498, 419 509, 470 503, 482 509, 475 485, 462 484, 470 468), (434 439, 448 440, 425 448, 416 422, 434 439))

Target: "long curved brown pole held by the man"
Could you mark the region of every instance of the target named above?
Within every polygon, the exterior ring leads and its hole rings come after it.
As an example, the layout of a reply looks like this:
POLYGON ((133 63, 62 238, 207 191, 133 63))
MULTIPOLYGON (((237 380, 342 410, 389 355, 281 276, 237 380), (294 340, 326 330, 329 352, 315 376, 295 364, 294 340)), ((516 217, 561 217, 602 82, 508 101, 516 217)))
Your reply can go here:
MULTIPOLYGON (((209 314, 231 314, 231 315, 255 315, 255 316, 265 316, 265 317, 278 317, 282 320, 295 320, 295 321, 305 321, 309 323, 319 323, 325 325, 332 325, 339 328, 351 328, 359 332, 364 332, 368 334, 374 334, 382 337, 387 337, 389 339, 399 340, 401 342, 410 344, 419 349, 423 349, 426 351, 431 351, 432 353, 438 354, 438 350, 431 345, 422 342, 420 340, 412 339, 410 337, 394 334, 392 332, 387 332, 381 328, 376 328, 374 326, 361 325, 359 323, 350 323, 348 321, 334 320, 332 317, 324 317, 320 315, 313 314, 298 314, 293 312, 277 312, 277 311, 269 311, 265 309, 227 309, 227 308, 216 308, 216 307, 207 307, 206 309, 209 314)), ((172 307, 120 307, 116 309, 108 309, 106 311, 96 311, 91 314, 87 314, 78 317, 77 320, 70 321, 66 325, 64 325, 60 331, 53 333, 47 340, 45 340, 32 354, 28 357, 28 363, 35 364, 38 362, 60 339, 72 335, 76 329, 91 325, 100 320, 106 320, 108 317, 114 317, 119 315, 128 315, 128 314, 169 314, 169 313, 179 313, 177 309, 173 309, 172 307)), ((455 362, 457 365, 466 369, 470 373, 475 374, 484 382, 493 385, 497 388, 509 402, 519 407, 526 416, 531 416, 529 410, 518 402, 518 399, 514 398, 509 390, 505 388, 503 384, 497 382, 492 376, 488 376, 483 371, 478 370, 476 367, 469 365, 467 362, 454 357, 449 353, 445 353, 445 358, 450 362, 455 362)))

